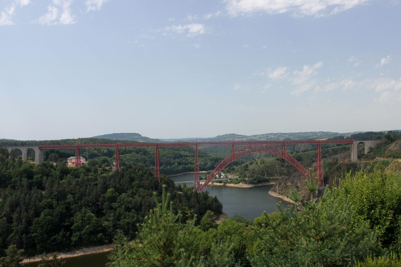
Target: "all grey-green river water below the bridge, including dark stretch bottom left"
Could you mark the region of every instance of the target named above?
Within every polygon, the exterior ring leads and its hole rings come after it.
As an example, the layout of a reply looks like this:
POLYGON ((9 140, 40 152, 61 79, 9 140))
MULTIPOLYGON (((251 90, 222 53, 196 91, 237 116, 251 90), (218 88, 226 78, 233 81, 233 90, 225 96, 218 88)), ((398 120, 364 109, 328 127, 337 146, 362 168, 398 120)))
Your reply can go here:
MULTIPOLYGON (((201 174, 201 176, 204 174, 201 174)), ((172 176, 172 180, 177 182, 193 181, 194 174, 182 174, 172 176)), ((202 179, 202 178, 201 178, 202 179)), ((187 186, 193 186, 189 183, 187 186)), ((233 216, 235 213, 253 220, 261 216, 263 211, 273 212, 277 210, 276 204, 282 201, 282 206, 286 208, 292 205, 279 198, 269 195, 269 190, 272 185, 255 186, 249 188, 240 188, 232 186, 207 186, 205 191, 208 191, 211 196, 217 196, 223 204, 223 212, 228 216, 233 216)), ((74 258, 65 259, 66 263, 63 267, 104 267, 107 263, 107 253, 97 253, 91 255, 83 255, 74 258)), ((28 263, 26 267, 36 267, 38 263, 28 263)))

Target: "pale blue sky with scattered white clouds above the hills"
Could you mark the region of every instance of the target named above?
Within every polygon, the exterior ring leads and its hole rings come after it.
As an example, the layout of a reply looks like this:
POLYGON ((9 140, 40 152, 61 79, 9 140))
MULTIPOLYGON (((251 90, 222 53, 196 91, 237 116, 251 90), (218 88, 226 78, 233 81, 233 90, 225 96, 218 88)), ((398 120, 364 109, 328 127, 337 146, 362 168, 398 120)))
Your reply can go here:
POLYGON ((0 0, 0 138, 401 129, 401 1, 0 0))

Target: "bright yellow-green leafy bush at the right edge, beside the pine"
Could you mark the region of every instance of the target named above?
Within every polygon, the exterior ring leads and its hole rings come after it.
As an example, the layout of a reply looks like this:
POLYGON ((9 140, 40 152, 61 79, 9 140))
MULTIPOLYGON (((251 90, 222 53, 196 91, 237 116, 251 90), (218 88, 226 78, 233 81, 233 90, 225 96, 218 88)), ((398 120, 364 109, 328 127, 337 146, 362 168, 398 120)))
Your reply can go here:
POLYGON ((355 223, 369 221, 383 245, 401 247, 401 174, 381 171, 345 174, 336 196, 349 197, 355 223))

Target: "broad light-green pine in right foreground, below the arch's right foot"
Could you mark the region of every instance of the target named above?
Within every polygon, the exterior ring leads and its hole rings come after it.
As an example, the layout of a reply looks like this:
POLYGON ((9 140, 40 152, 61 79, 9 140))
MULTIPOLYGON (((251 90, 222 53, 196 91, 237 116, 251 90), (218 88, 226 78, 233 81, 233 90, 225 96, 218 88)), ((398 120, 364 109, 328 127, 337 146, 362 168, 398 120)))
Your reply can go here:
POLYGON ((376 233, 367 223, 354 223, 356 214, 348 199, 335 198, 326 188, 316 202, 316 179, 311 179, 307 187, 310 201, 301 204, 298 193, 291 195, 300 211, 283 211, 280 202, 277 220, 264 214, 266 223, 255 230, 259 237, 257 249, 248 257, 252 266, 346 266, 351 250, 365 247, 363 250, 369 251, 368 247, 376 244, 376 233))

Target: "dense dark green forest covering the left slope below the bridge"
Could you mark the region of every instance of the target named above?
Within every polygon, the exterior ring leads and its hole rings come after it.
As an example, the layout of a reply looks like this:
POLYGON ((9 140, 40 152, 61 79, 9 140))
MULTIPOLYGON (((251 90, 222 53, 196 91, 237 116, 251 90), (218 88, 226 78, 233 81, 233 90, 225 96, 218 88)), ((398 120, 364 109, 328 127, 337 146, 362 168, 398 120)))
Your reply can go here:
MULTIPOLYGON (((134 238, 137 223, 154 208, 153 192, 162 187, 150 168, 126 164, 121 172, 89 164, 68 168, 64 163, 38 165, 8 159, 0 147, 0 249, 10 245, 27 255, 64 251, 109 243, 120 230, 134 238)), ((182 223, 197 214, 200 223, 207 210, 221 213, 222 205, 207 192, 178 188, 162 176, 181 211, 182 223)))

